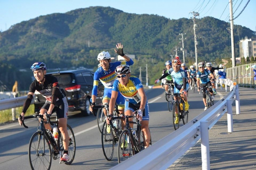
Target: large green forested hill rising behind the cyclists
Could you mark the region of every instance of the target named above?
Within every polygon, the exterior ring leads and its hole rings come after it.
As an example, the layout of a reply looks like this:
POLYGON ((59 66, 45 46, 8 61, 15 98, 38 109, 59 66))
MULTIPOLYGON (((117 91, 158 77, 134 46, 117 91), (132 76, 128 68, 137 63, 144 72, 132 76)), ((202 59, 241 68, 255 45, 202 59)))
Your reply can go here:
MULTIPOLYGON (((213 17, 196 19, 196 24, 198 60, 229 58, 229 24, 213 17)), ((255 32, 241 25, 234 27, 238 55, 239 38, 255 37, 255 32)), ((39 16, 1 32, 0 80, 5 82, 6 77, 17 77, 13 71, 27 69, 35 61, 46 62, 48 68, 93 68, 97 65, 99 52, 109 51, 115 57, 117 42, 124 45, 126 54, 135 54, 136 59, 145 62, 150 59, 155 65, 170 59, 170 54, 175 54, 175 46, 182 47, 179 33, 186 33, 183 37, 189 53, 186 62, 193 62, 195 46, 191 19, 170 20, 158 15, 124 13, 110 7, 39 16)), ((178 51, 178 55, 182 56, 182 52, 178 51)))

